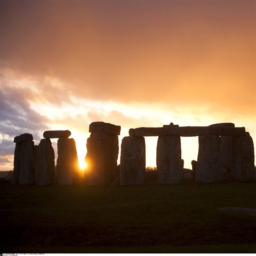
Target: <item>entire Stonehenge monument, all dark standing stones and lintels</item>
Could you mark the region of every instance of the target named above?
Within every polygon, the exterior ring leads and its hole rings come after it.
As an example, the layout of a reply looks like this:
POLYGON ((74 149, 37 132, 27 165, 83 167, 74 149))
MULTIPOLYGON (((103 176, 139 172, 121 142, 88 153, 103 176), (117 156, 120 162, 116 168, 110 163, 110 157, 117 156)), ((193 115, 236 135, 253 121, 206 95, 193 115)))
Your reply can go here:
MULTIPOLYGON (((146 181, 159 184, 180 182, 252 181, 255 179, 254 146, 245 127, 233 123, 209 126, 163 125, 163 127, 139 127, 129 130, 129 136, 121 143, 120 165, 118 135, 121 126, 105 122, 93 122, 89 126, 85 161, 88 172, 87 185, 144 185, 146 181), (155 171, 146 173, 147 136, 157 136, 155 171), (180 137, 198 137, 197 161, 191 161, 191 169, 184 168, 181 159, 180 137)), ((38 146, 33 135, 21 134, 14 138, 13 185, 75 185, 79 180, 76 143, 71 132, 45 131, 38 146), (57 165, 51 138, 58 138, 57 165)))

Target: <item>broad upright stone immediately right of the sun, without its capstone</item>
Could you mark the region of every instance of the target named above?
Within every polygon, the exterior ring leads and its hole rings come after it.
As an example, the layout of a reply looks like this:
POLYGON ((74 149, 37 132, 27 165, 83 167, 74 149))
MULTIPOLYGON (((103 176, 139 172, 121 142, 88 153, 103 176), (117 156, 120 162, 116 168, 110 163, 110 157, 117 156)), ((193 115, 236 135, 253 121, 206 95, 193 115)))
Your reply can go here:
POLYGON ((109 185, 118 177, 118 135, 93 132, 86 143, 85 162, 90 172, 86 176, 89 185, 109 185))

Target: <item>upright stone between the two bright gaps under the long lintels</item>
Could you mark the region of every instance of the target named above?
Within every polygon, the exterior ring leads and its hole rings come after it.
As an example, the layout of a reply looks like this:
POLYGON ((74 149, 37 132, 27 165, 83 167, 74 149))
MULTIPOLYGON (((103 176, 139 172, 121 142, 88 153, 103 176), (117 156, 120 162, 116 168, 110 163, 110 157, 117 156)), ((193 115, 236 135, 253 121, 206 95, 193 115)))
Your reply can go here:
POLYGON ((159 136, 156 149, 157 182, 177 184, 182 180, 179 136, 159 136))

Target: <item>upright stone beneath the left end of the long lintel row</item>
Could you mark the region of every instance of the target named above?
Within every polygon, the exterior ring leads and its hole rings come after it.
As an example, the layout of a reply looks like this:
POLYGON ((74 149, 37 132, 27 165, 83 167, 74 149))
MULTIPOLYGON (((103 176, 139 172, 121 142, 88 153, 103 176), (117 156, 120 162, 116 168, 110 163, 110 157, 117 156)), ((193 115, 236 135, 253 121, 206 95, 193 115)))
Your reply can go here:
POLYGON ((143 185, 146 172, 143 137, 124 137, 121 144, 120 185, 143 185))

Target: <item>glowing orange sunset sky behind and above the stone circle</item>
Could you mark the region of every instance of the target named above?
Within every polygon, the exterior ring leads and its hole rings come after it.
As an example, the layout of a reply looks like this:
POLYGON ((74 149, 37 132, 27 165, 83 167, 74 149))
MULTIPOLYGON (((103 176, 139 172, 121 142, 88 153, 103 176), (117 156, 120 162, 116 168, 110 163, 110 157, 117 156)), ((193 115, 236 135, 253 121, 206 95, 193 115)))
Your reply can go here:
MULTIPOLYGON (((70 130, 79 164, 89 125, 231 122, 256 141, 255 0, 1 0, 0 170, 13 139, 70 130)), ((157 137, 146 138, 156 166, 157 137)), ((57 157, 57 139, 52 140, 57 157)), ((198 137, 181 138, 191 169, 198 137)), ((254 147, 255 148, 255 147, 254 147)), ((119 160, 118 160, 119 161, 119 160)))

